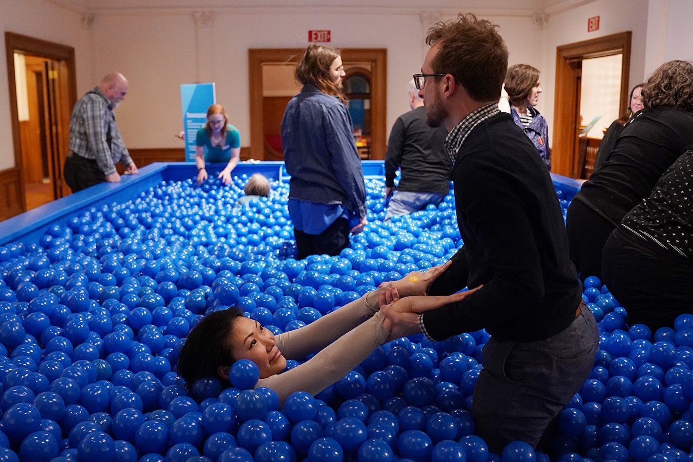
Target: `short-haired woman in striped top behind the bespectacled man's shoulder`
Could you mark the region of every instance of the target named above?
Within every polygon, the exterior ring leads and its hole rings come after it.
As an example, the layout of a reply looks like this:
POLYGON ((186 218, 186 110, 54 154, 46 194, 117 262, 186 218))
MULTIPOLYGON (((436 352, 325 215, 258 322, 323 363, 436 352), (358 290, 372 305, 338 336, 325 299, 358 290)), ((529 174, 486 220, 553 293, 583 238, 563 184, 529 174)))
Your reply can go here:
POLYGON ((529 64, 510 66, 505 74, 505 91, 510 100, 510 114, 515 124, 525 131, 544 159, 546 168, 551 170, 549 126, 544 116, 535 109, 542 91, 539 70, 529 64))

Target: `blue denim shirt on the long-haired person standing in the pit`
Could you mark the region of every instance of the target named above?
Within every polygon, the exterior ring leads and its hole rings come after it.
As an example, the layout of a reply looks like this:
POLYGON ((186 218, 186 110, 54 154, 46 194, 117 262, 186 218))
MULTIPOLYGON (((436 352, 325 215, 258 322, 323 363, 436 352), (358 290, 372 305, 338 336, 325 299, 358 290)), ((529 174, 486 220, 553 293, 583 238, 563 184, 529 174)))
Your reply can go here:
POLYGON ((281 121, 289 199, 341 204, 366 216, 361 159, 353 141, 351 117, 336 96, 304 85, 286 105, 281 121))

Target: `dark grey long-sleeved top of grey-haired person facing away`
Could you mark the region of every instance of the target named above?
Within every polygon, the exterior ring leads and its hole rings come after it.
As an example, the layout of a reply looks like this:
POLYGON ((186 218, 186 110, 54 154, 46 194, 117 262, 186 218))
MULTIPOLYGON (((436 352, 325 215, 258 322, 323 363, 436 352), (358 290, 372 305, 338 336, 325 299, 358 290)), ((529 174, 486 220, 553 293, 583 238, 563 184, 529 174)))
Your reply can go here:
POLYGON ((447 132, 426 123, 426 107, 417 107, 397 118, 387 141, 385 186, 394 186, 397 168, 401 191, 447 194, 450 190, 450 157, 443 143, 447 132))

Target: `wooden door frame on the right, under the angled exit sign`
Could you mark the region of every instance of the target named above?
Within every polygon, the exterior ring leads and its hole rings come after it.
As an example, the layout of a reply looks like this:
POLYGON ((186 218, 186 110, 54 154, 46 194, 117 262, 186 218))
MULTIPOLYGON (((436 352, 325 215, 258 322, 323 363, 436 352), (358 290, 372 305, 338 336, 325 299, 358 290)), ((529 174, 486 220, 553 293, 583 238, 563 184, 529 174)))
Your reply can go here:
POLYGON ((556 91, 554 94, 554 131, 552 171, 565 177, 579 177, 577 128, 579 125, 579 71, 582 60, 621 53, 620 112, 628 106, 631 69, 631 31, 605 35, 556 47, 556 91))

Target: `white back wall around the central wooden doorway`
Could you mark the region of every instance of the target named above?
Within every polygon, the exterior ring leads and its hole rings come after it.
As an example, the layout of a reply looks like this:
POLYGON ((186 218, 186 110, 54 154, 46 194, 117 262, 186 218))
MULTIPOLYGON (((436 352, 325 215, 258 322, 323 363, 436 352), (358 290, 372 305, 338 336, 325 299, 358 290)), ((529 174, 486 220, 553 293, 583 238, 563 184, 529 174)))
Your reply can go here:
MULTIPOLYGON (((454 17, 448 15, 447 17, 454 17)), ((308 30, 331 30, 337 48, 387 48, 387 130, 409 110, 405 94, 412 74, 419 72, 427 46, 423 39, 430 26, 446 15, 374 10, 368 15, 342 9, 315 10, 215 10, 207 28, 195 33, 192 12, 172 12, 152 17, 142 12, 97 17, 94 39, 95 75, 117 69, 130 80, 128 98, 117 110, 119 127, 133 148, 175 148, 172 134, 180 127, 179 85, 195 82, 197 75, 216 82, 218 103, 238 127, 241 145, 249 143, 248 48, 303 48, 308 30), (423 19, 422 19, 423 17, 423 19), (156 24, 154 27, 153 25, 156 24), (195 37, 198 37, 199 53, 195 37), (105 53, 112 42, 122 46, 105 53), (196 54, 200 67, 196 70, 196 54), (211 56, 211 64, 204 63, 211 56), (150 114, 148 108, 155 108, 150 114)), ((501 33, 530 39, 530 15, 488 17, 501 25, 501 33)), ((536 58, 533 48, 509 41, 517 60, 536 58)), ((204 80, 204 79, 203 79, 204 80)), ((207 81, 207 80, 205 80, 207 81)))

